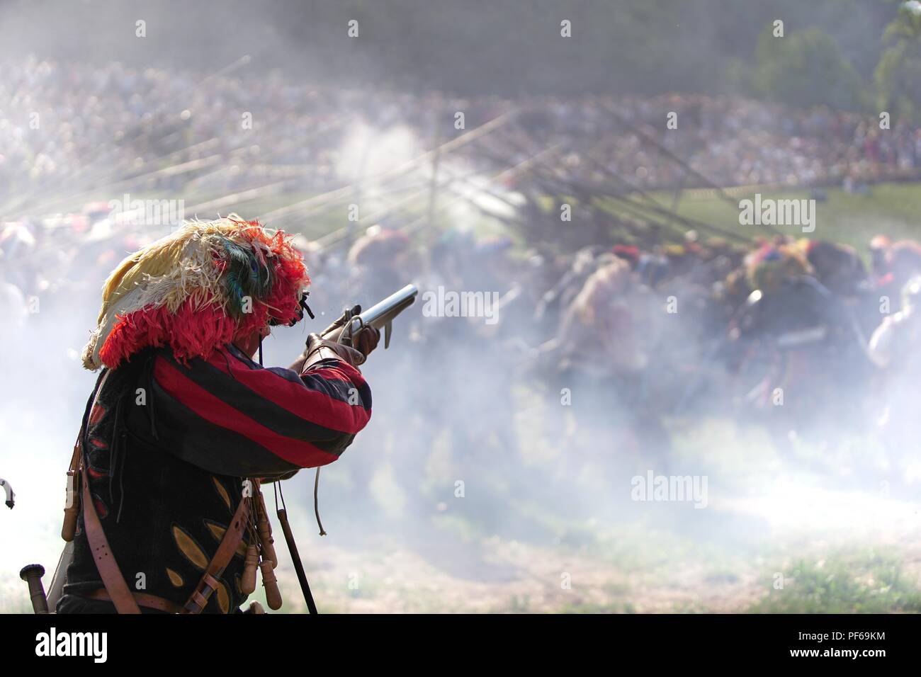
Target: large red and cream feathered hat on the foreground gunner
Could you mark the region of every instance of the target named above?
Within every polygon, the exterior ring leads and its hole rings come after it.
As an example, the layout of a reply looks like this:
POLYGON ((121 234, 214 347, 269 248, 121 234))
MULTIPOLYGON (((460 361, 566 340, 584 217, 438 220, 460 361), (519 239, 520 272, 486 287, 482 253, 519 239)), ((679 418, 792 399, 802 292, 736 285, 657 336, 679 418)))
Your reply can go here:
POLYGON ((148 346, 186 361, 303 316, 307 267, 281 230, 236 216, 187 221, 128 256, 102 286, 83 366, 115 368, 148 346))

